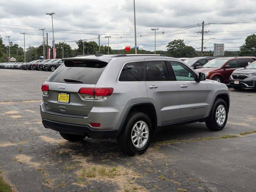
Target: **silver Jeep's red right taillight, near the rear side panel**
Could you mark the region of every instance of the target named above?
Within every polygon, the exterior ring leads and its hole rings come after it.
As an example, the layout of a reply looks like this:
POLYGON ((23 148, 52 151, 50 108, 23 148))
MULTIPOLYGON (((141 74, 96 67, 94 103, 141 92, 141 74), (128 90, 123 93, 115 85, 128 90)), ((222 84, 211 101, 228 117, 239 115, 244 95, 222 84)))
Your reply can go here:
POLYGON ((106 100, 113 91, 113 88, 80 88, 78 93, 83 99, 106 100))

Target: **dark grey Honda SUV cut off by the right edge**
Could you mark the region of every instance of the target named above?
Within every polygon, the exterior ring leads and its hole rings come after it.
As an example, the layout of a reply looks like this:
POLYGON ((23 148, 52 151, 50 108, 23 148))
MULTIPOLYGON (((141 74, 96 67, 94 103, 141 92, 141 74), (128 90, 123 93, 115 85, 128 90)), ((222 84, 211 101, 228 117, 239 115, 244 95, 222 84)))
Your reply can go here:
POLYGON ((256 61, 244 68, 234 70, 228 82, 230 87, 236 90, 256 88, 256 61))

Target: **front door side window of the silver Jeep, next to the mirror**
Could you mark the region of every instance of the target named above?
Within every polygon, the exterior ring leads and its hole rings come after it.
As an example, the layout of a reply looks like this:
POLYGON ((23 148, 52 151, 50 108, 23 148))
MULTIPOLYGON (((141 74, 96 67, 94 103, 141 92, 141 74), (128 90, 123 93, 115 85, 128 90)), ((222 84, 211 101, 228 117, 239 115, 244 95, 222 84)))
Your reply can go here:
POLYGON ((170 61, 170 65, 174 71, 176 81, 194 81, 196 74, 187 66, 180 62, 170 61))

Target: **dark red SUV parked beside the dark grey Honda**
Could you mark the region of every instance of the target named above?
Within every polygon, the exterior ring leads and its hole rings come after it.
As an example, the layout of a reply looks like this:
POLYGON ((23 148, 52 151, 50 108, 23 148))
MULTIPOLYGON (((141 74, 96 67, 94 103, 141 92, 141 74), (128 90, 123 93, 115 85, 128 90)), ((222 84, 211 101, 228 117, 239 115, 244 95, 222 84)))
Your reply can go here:
POLYGON ((215 80, 228 84, 228 78, 232 72, 254 62, 256 57, 223 57, 210 60, 202 68, 196 69, 197 72, 204 72, 206 79, 215 80))

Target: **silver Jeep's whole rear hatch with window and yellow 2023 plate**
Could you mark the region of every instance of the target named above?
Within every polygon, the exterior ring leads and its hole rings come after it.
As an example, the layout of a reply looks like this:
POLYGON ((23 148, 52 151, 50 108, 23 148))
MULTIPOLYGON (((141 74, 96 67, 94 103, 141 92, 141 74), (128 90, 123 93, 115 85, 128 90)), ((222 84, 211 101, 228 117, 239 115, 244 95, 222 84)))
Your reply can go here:
POLYGON ((88 116, 94 100, 84 99, 78 92, 80 88, 94 88, 108 62, 109 60, 64 59, 64 64, 45 82, 49 85, 49 94, 43 97, 46 109, 88 116))

